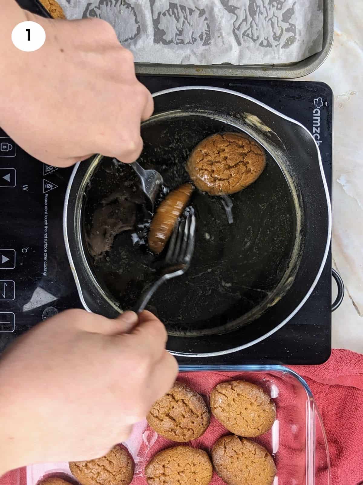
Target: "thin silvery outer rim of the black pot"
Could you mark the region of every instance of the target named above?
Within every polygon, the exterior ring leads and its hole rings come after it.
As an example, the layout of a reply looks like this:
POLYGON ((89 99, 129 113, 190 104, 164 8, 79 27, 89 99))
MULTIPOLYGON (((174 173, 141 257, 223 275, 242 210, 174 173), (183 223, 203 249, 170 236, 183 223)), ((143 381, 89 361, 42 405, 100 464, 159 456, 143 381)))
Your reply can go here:
MULTIPOLYGON (((175 352, 175 351, 171 352, 171 354, 173 354, 174 356, 180 356, 180 357, 185 357, 185 356, 188 356, 188 357, 191 357, 191 358, 192 357, 214 357, 214 356, 221 356, 221 355, 232 354, 234 352, 238 352, 238 351, 243 350, 247 347, 251 347, 252 345, 255 345, 256 343, 258 343, 258 342, 260 342, 264 339, 267 339, 268 337, 270 337, 270 335, 272 335, 277 330, 282 328, 302 308, 302 306, 305 304, 306 300, 309 298, 309 296, 313 292, 314 288, 316 287, 318 280, 321 276, 321 273, 323 271, 323 268, 325 266, 325 262, 326 262, 327 257, 328 257, 330 242, 331 242, 331 237, 332 237, 332 208, 331 208, 331 204, 330 204, 330 195, 329 195, 329 191, 328 191, 328 185, 327 185, 326 179, 325 179, 325 174, 324 174, 324 169, 323 169, 323 165, 322 165, 322 161, 321 161, 321 155, 320 155, 320 150, 319 150, 318 144, 317 144, 315 138, 313 137, 313 135, 310 133, 310 131, 307 128, 305 128, 300 122, 294 120, 293 118, 286 116, 283 113, 279 113, 278 111, 274 110, 270 106, 266 105, 265 103, 262 103, 261 101, 258 101, 257 99, 255 99, 253 97, 244 95, 242 93, 238 93, 238 92, 230 90, 230 89, 218 88, 218 87, 214 87, 214 86, 202 86, 202 85, 200 85, 200 86, 180 86, 180 87, 176 87, 176 88, 170 88, 170 89, 164 89, 162 91, 157 91, 156 93, 152 94, 152 97, 158 97, 158 96, 161 96, 161 95, 164 95, 164 94, 167 94, 167 93, 173 93, 173 92, 178 92, 178 91, 186 91, 186 90, 218 91, 218 92, 224 92, 224 93, 231 94, 231 95, 234 95, 234 96, 242 97, 244 99, 248 99, 249 101, 252 101, 253 103, 256 103, 256 104, 262 106, 266 110, 278 115, 280 118, 287 120, 289 123, 293 123, 293 124, 299 126, 302 130, 304 130, 307 133, 307 135, 313 140, 315 147, 316 147, 316 150, 317 150, 320 175, 321 175, 322 182, 323 182, 324 193, 325 193, 325 197, 326 197, 325 201, 326 201, 327 210, 328 210, 327 241, 326 241, 326 245, 325 245, 324 255, 323 255, 323 258, 321 260, 320 267, 318 269, 318 273, 317 273, 311 287, 309 288, 309 290, 305 294, 304 298, 302 298, 299 305, 297 305, 297 307, 295 307, 295 309, 287 316, 287 318, 285 318, 276 327, 274 327, 272 330, 265 333, 261 337, 258 337, 257 339, 252 340, 251 342, 245 343, 243 345, 233 347, 231 349, 218 351, 218 352, 209 352, 209 353, 206 352, 206 353, 194 353, 194 354, 189 354, 187 352, 175 352)), ((97 156, 97 155, 95 155, 95 156, 97 156)), ((78 170, 80 163, 81 162, 77 162, 73 171, 72 171, 72 175, 71 175, 71 177, 68 181, 68 186, 67 186, 67 190, 66 190, 66 194, 65 194, 64 208, 63 208, 63 237, 64 237, 64 244, 65 244, 65 248, 66 248, 68 261, 69 261, 69 264, 70 264, 70 267, 71 267, 73 277, 74 277, 75 282, 76 282, 76 287, 77 287, 79 299, 81 300, 83 307, 87 311, 91 312, 90 308, 88 307, 88 305, 87 305, 87 303, 84 299, 81 284, 80 284, 80 281, 78 279, 78 275, 77 275, 77 272, 76 272, 76 269, 75 269, 75 265, 74 265, 72 254, 71 254, 71 249, 70 249, 70 244, 69 244, 69 239, 68 239, 68 229, 67 229, 67 212, 68 212, 69 197, 70 197, 71 187, 72 187, 72 184, 73 184, 73 181, 74 181, 74 178, 76 176, 76 172, 78 170)), ((118 311, 120 311, 119 308, 116 308, 116 309, 118 311)), ((121 313, 121 311, 120 311, 120 313, 121 313)))

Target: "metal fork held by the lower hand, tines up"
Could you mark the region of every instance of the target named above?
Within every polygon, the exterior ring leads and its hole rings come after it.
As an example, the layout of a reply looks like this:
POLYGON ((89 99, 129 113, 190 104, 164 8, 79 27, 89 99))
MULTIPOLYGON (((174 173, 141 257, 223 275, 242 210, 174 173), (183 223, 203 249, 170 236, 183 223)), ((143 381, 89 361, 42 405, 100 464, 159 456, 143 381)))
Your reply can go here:
POLYGON ((140 313, 151 296, 165 281, 183 275, 190 266, 196 239, 196 216, 192 207, 181 216, 170 238, 165 260, 161 264, 161 275, 138 300, 134 311, 140 313))

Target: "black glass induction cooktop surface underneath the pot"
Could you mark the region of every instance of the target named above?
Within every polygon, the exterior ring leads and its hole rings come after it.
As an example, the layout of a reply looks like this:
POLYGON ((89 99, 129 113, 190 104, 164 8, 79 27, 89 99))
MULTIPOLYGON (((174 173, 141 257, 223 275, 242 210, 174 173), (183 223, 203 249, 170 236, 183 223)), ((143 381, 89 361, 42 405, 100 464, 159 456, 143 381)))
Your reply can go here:
MULTIPOLYGON (((302 123, 318 142, 331 194, 333 94, 319 82, 140 77, 151 92, 185 85, 238 91, 302 123)), ((41 134, 39 135, 41 137, 41 134)), ((0 351, 36 323, 82 307, 63 243, 72 168, 44 165, 0 131, 0 351)), ((322 201, 323 202, 323 201, 322 201)), ((331 352, 331 254, 302 309, 268 339, 227 356, 181 363, 318 364, 331 352)))

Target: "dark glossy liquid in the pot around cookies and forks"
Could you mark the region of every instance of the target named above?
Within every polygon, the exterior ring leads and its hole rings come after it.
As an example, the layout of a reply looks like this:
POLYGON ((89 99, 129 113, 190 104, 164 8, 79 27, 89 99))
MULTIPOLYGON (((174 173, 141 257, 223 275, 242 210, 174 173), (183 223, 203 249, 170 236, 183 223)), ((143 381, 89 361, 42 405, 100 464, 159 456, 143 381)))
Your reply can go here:
MULTIPOLYGON (((198 114, 143 124, 139 162, 163 176, 161 198, 190 181, 186 162, 198 143, 223 132, 241 133, 198 114)), ((208 335, 253 324, 283 296, 282 282, 299 264, 300 236, 291 188, 269 153, 264 162, 254 183, 230 195, 233 224, 221 197, 193 192, 188 202, 197 217, 192 264, 185 275, 156 291, 148 306, 170 335, 208 335)), ((148 209, 132 168, 104 158, 87 191, 85 250, 100 286, 122 309, 133 307, 158 276, 155 261, 162 256, 148 248, 148 209)))

